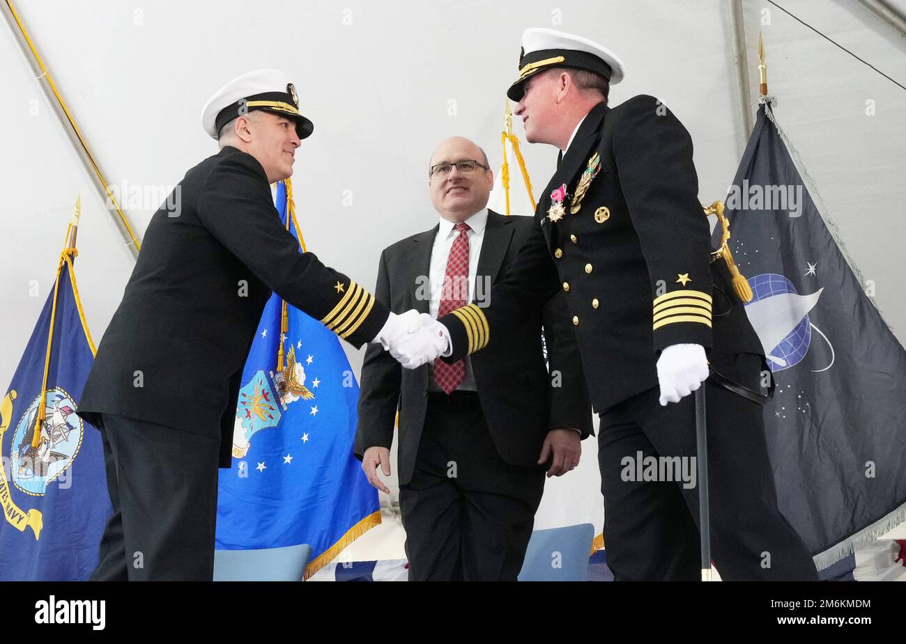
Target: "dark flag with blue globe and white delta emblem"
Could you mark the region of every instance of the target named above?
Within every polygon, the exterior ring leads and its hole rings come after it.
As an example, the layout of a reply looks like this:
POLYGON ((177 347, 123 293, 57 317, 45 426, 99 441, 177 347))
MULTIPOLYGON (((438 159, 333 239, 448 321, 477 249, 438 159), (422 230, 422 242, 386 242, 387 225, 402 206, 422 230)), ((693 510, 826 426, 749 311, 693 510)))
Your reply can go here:
POLYGON ((906 350, 805 189, 767 104, 729 188, 730 248, 776 379, 780 509, 824 569, 906 519, 906 350))

